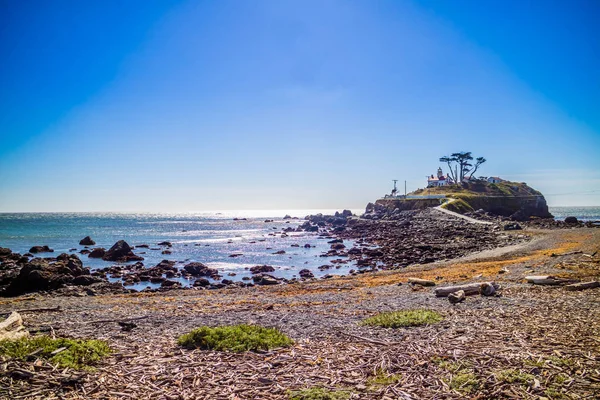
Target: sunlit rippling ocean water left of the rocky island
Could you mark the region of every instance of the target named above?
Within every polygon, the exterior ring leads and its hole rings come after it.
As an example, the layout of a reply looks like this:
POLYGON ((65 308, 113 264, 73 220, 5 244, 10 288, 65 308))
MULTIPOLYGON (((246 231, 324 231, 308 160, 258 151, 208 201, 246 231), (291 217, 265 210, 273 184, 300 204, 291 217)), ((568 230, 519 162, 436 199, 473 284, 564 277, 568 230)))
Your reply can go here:
MULTIPOLYGON (((108 249, 121 239, 131 246, 149 245, 150 249, 134 249, 135 254, 144 257, 143 263, 146 267, 152 267, 164 259, 177 261, 179 266, 197 261, 217 268, 223 278, 231 280, 251 276, 249 267, 265 264, 276 269, 273 275, 285 278, 297 276, 298 271, 304 268, 310 269, 317 277, 328 273, 347 274, 353 267, 352 263, 338 264, 341 267, 337 269, 334 266, 329 270, 319 271, 319 266, 340 258, 319 257, 330 248, 327 240, 307 232, 290 232, 287 233, 287 237, 282 237, 283 229, 296 228, 304 222, 304 216, 316 212, 331 214, 335 211, 0 214, 0 247, 8 247, 23 254, 32 246, 48 245, 54 249, 54 253, 39 253, 38 256, 55 257, 61 253, 73 253, 91 269, 116 264, 79 254, 79 251, 85 248, 79 245, 79 241, 89 235, 96 242, 96 245, 90 248, 108 249), (299 219, 284 220, 285 214, 299 219), (236 221, 234 218, 240 220, 236 221), (245 220, 241 220, 242 218, 245 220), (273 222, 265 222, 271 219, 273 222), (169 249, 172 254, 161 254, 165 248, 160 248, 157 243, 162 241, 173 244, 169 249), (314 247, 304 248, 307 243, 314 247), (300 247, 292 247, 292 244, 298 244, 300 247), (155 250, 152 250, 153 248, 155 250), (279 250, 284 250, 285 254, 274 254, 279 250), (242 255, 230 257, 236 253, 242 255)), ((352 245, 352 242, 346 241, 346 246, 352 245)), ((183 278, 179 281, 184 285, 193 283, 183 278)), ((159 285, 144 282, 133 288, 143 289, 146 286, 159 285)))

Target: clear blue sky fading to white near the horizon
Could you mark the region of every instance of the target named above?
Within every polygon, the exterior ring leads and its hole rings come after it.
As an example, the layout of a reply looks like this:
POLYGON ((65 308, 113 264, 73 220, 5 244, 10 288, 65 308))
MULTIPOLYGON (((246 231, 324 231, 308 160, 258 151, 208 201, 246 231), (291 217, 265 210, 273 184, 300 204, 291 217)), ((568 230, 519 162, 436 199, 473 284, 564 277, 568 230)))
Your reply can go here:
POLYGON ((0 211, 600 205, 600 2, 0 0, 0 211))

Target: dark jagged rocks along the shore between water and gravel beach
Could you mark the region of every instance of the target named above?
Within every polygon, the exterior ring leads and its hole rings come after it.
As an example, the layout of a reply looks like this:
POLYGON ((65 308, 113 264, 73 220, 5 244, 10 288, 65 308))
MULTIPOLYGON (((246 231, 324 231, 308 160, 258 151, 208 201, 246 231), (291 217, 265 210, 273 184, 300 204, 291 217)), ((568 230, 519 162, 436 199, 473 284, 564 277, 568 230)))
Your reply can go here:
MULTIPOLYGON (((357 218, 345 210, 329 216, 307 216, 297 228, 286 227, 280 233, 286 235, 291 231, 314 233, 319 239, 327 240, 330 249, 321 254, 323 263, 320 271, 331 270, 333 273, 342 265, 355 265, 348 271, 351 275, 453 259, 528 239, 527 235, 502 234, 499 225, 492 228, 477 226, 431 210, 400 212, 391 219, 357 218), (346 243, 352 240, 355 246, 347 248, 345 240, 346 243)), ((88 236, 80 243, 93 246, 94 241, 88 236)), ((167 241, 157 246, 171 247, 167 241)), ((296 246, 300 247, 301 244, 296 246)), ((149 246, 138 247, 145 249, 149 246)), ((32 292, 77 296, 126 293, 135 291, 127 286, 143 282, 160 284, 160 288, 145 291, 166 291, 180 288, 243 288, 316 279, 310 269, 300 270, 297 278, 280 278, 269 265, 252 267, 251 278, 237 281, 230 276, 221 276, 217 269, 201 262, 163 260, 157 265, 146 266, 143 257, 135 254, 134 248, 123 240, 109 250, 91 248, 82 250, 82 253, 84 251, 90 258, 102 258, 120 264, 92 271, 84 267, 84 261, 76 254, 40 257, 41 254, 53 252, 48 246, 34 246, 24 255, 1 249, 0 296, 32 292), (124 264, 133 261, 133 264, 124 264), (186 279, 190 285, 185 287, 174 278, 186 279)), ((328 273, 324 278, 333 276, 328 273)))

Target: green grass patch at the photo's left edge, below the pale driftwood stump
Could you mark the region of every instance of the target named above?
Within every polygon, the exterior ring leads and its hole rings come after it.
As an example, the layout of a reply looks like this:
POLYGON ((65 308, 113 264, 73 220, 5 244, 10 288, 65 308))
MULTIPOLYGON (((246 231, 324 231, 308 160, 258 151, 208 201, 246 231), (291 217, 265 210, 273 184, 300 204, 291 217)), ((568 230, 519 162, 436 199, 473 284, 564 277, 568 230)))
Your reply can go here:
POLYGON ((15 341, 0 341, 0 355, 18 360, 35 357, 48 360, 61 368, 91 370, 91 365, 110 354, 108 344, 102 340, 52 339, 49 336, 34 336, 15 341), (65 347, 64 350, 52 354, 65 347))

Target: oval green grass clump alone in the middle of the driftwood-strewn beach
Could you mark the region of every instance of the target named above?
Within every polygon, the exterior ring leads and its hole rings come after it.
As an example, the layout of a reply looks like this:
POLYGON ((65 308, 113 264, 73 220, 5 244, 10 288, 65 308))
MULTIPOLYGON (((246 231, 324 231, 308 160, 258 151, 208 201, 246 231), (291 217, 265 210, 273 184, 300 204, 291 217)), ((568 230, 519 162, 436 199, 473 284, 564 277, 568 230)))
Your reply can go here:
POLYGON ((270 350, 288 347, 293 341, 275 328, 256 325, 230 325, 211 328, 203 326, 182 335, 177 340, 189 349, 233 351, 270 350))

